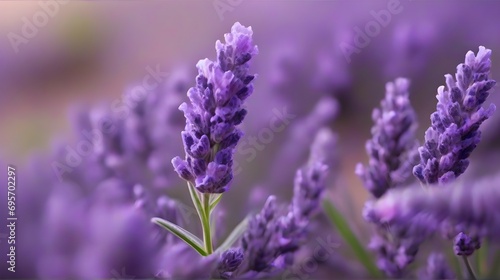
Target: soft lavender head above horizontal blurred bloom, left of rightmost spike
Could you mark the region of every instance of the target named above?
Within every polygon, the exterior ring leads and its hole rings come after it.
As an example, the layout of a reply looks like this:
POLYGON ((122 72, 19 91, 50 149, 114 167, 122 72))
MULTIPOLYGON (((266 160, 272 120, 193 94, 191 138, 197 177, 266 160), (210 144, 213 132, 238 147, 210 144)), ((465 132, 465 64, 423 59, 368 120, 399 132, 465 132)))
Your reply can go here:
POLYGON ((366 143, 368 166, 359 163, 356 174, 376 198, 404 183, 416 161, 418 143, 415 111, 410 104, 407 79, 386 84, 381 109, 374 109, 373 138, 366 143))

